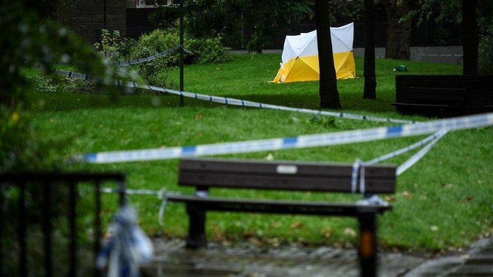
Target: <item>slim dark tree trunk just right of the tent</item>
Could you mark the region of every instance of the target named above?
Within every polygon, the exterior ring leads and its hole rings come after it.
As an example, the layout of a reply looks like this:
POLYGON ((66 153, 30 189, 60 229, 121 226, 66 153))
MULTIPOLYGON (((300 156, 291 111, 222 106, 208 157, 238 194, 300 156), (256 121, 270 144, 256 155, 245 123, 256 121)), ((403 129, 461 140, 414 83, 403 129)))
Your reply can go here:
POLYGON ((377 79, 375 74, 375 17, 373 0, 365 0, 365 88, 363 99, 376 99, 377 79))

